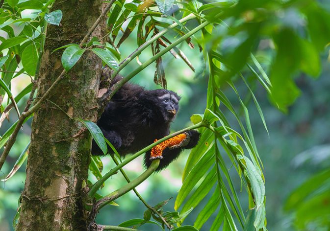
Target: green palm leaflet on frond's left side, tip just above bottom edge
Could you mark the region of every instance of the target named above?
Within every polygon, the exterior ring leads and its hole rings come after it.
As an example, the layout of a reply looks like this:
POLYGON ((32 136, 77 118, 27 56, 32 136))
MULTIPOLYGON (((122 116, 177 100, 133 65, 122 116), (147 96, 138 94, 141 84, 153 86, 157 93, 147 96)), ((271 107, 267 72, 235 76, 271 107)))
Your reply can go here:
POLYGON ((220 190, 217 187, 212 194, 211 198, 208 200, 205 207, 198 214, 194 227, 197 229, 201 229, 203 224, 210 218, 210 216, 214 213, 214 211, 218 208, 221 201, 220 190))

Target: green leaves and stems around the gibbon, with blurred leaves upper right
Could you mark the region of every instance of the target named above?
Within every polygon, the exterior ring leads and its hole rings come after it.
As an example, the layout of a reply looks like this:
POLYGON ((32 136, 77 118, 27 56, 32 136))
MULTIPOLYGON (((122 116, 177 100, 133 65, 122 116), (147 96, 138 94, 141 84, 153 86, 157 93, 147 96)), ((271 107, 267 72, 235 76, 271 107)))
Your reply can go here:
MULTIPOLYGON (((81 198, 83 209, 95 215, 108 204, 116 205, 114 200, 130 190, 141 197, 134 188, 153 173, 159 162, 153 162, 142 175, 131 182, 122 167, 165 139, 189 129, 199 129, 201 140, 191 151, 185 165, 182 187, 175 200, 175 211, 163 211, 166 201, 151 207, 141 199, 147 207, 144 219, 132 219, 119 226, 135 229, 145 223, 152 223, 160 230, 178 227, 175 230, 196 231, 202 229, 203 224, 212 217, 212 231, 266 230, 262 156, 259 155, 254 140, 245 98, 252 98, 268 132, 262 108, 257 95, 254 95, 255 84, 260 84, 265 89, 275 107, 287 112, 288 107, 300 95, 295 83, 297 75, 303 72, 308 76, 318 77, 321 72, 320 53, 330 40, 330 23, 324 23, 330 22, 330 13, 322 3, 315 0, 104 1, 102 15, 91 28, 82 28, 86 31, 86 36, 79 43, 47 50, 59 55, 63 71, 42 97, 35 95, 40 88, 37 83, 42 74, 39 68, 41 57, 46 52, 45 41, 51 39, 47 28, 61 27, 65 15, 60 6, 66 3, 57 4, 54 0, 2 0, 0 4, 0 30, 3 32, 0 34, 0 126, 9 113, 16 113, 18 116, 18 120, 0 138, 1 169, 21 126, 46 102, 49 103, 48 99, 56 85, 68 77, 77 62, 84 59, 84 54, 93 52, 100 58, 103 70, 110 70, 110 78, 128 66, 133 67, 122 81, 111 89, 106 88, 98 97, 95 107, 100 109, 100 114, 106 102, 123 84, 150 65, 155 67, 154 83, 167 88, 168 79, 175 78, 166 75, 164 55, 170 52, 173 58, 183 60, 197 78, 207 79, 204 114, 192 115, 191 126, 158 140, 122 162, 119 155, 113 156, 116 165, 107 173, 102 173, 102 160, 92 157, 89 169, 96 181, 85 179, 84 186, 87 185, 89 191, 81 198), (106 22, 105 35, 102 38, 93 37, 92 33, 102 20, 106 22), (135 48, 124 57, 122 47, 131 43, 132 39, 135 40, 135 48), (190 61, 193 57, 182 51, 186 49, 184 47, 199 49, 201 62, 198 67, 194 67, 190 61), (152 57, 142 61, 140 55, 146 52, 145 49, 151 50, 152 57), (11 83, 21 75, 30 78, 31 83, 14 97, 11 83), (237 89, 237 83, 245 84, 243 92, 237 89), (240 108, 233 107, 233 102, 228 99, 224 89, 231 89, 236 94, 240 108), (25 95, 28 94, 27 98, 25 95), (22 113, 17 105, 25 105, 22 113), (235 118, 235 124, 229 123, 224 108, 235 118), (231 168, 237 172, 239 181, 232 179, 228 170, 231 168), (97 191, 105 180, 117 171, 126 178, 127 185, 106 196, 98 194, 97 191), (239 185, 248 195, 248 205, 242 206, 239 201, 239 185), (204 208, 198 207, 207 195, 211 197, 204 208), (180 227, 185 217, 194 209, 200 209, 195 223, 180 227), (215 218, 212 214, 215 214, 215 218)), ((57 105, 53 104, 56 108, 57 105)), ((104 154, 107 153, 106 143, 113 148, 104 139, 96 121, 68 116, 87 128, 104 154)), ((29 145, 30 143, 22 150, 22 155, 12 170, 5 172, 5 181, 28 158, 29 145)), ((20 209, 19 207, 13 218, 14 226, 20 219, 20 209)), ((87 224, 93 224, 94 219, 95 216, 88 216, 87 224)), ((88 226, 88 229, 93 228, 88 226)), ((102 229, 116 228, 103 225, 102 229)))

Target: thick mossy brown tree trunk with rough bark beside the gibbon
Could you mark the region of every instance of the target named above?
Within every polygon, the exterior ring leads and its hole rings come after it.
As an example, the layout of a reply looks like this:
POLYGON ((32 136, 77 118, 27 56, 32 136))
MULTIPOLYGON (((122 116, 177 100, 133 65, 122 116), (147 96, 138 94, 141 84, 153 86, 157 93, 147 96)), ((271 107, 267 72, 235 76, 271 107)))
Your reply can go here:
MULTIPOLYGON (((51 11, 56 9, 62 10, 63 19, 60 26, 48 25, 37 80, 39 97, 63 70, 63 50, 52 50, 79 44, 101 14, 102 1, 56 1, 51 11)), ((101 28, 98 26, 94 36, 101 36, 101 28)), ((101 60, 85 52, 35 113, 18 231, 86 230, 80 196, 88 173, 91 136, 70 117, 96 120, 101 71, 101 60)))

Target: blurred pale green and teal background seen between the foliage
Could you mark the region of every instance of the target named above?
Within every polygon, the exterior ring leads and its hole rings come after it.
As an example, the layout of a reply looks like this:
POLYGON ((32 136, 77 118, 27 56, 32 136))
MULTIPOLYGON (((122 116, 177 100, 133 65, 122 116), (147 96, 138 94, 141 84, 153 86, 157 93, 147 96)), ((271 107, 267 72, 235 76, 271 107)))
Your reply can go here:
MULTIPOLYGON (((323 1, 325 5, 326 1, 323 1)), ((324 22, 330 23, 330 22, 324 22)), ((16 28, 20 30, 20 28, 16 28)), ((133 35, 134 33, 132 33, 133 35)), ((266 44, 269 41, 265 42, 266 44)), ((135 49, 135 39, 131 39, 131 43, 127 42, 127 46, 122 46, 120 51, 122 57, 126 57, 132 50, 135 49), (131 44, 131 46, 129 46, 131 44)), ((190 124, 190 116, 195 113, 203 114, 206 104, 206 88, 207 88, 207 73, 203 76, 204 64, 201 63, 201 53, 198 47, 190 49, 183 45, 180 47, 197 69, 193 73, 182 60, 174 59, 171 54, 166 54, 163 58, 165 73, 168 81, 168 89, 178 92, 182 96, 180 101, 180 111, 176 121, 173 123, 173 131, 177 131, 190 124)), ((302 90, 301 96, 288 110, 287 115, 284 115, 270 103, 267 92, 256 84, 254 93, 263 110, 268 130, 269 137, 265 131, 260 116, 258 115, 252 99, 247 96, 246 87, 236 85, 238 90, 242 92, 242 98, 248 103, 250 119, 254 130, 255 141, 259 150, 261 160, 264 165, 264 175, 266 180, 266 214, 267 228, 270 231, 292 231, 294 230, 293 216, 290 213, 283 211, 283 205, 290 192, 302 184, 308 177, 321 169, 329 166, 327 159, 330 155, 330 68, 328 61, 328 51, 322 56, 322 73, 317 80, 313 80, 305 75, 297 76, 296 84, 302 90), (309 150, 309 151, 308 151, 309 150), (305 152, 307 151, 307 152, 305 152), (303 153, 305 152, 305 153, 303 153)), ((151 52, 145 51, 140 57, 141 62, 150 57, 151 52)), ((271 57, 272 49, 266 57, 271 57)), ((121 74, 125 76, 133 66, 137 64, 132 62, 124 69, 121 74)), ((154 66, 151 65, 139 75, 133 78, 132 82, 145 86, 147 89, 159 88, 153 83, 154 66)), ((244 74, 244 72, 243 72, 244 74)), ((249 76, 246 76, 247 78, 249 76)), ((20 76, 15 79, 12 89, 17 89, 19 92, 29 83, 27 76, 20 76)), ((236 109, 240 108, 237 97, 230 89, 225 89, 225 93, 231 102, 236 102, 236 109)), ((13 91, 15 92, 15 91, 13 91)), ((20 102, 20 109, 23 110, 24 100, 20 102)), ((224 112, 226 109, 223 108, 224 112)), ((238 110, 239 111, 239 110, 238 110)), ((230 114, 228 113, 230 118, 230 114)), ((3 134, 17 117, 15 113, 11 113, 9 121, 5 121, 0 129, 0 134, 3 134)), ((232 118, 234 124, 234 118, 232 118)), ((21 154, 26 144, 29 141, 30 122, 24 125, 23 131, 15 143, 15 146, 10 152, 7 161, 3 167, 3 175, 7 174, 18 156, 21 154)), ((238 129, 238 127, 233 127, 238 129)), ((2 152, 3 149, 0 150, 2 152)), ((181 176, 188 153, 184 153, 180 158, 171 164, 166 170, 152 175, 148 181, 137 187, 137 190, 147 200, 150 205, 155 205, 160 201, 175 197, 178 189, 181 186, 181 176)), ((104 157, 103 163, 105 169, 109 170, 113 165, 109 157, 104 157)), ((228 161, 228 160, 227 160, 228 161)), ((132 179, 142 172, 142 159, 139 158, 131 162, 125 169, 132 179)), ((228 165, 230 166, 230 164, 228 165)), ((240 182, 235 171, 232 172, 232 179, 235 183, 238 192, 240 191, 240 182)), ((92 181, 95 181, 91 177, 92 181)), ((12 220, 18 207, 20 193, 23 190, 25 182, 25 165, 21 167, 6 183, 0 182, 0 231, 10 231, 12 228, 12 220)), ((101 193, 109 193, 121 184, 125 184, 122 176, 117 174, 109 179, 101 193)), ((239 193, 242 202, 242 207, 247 208, 246 193, 239 193)), ((206 202, 209 198, 205 198, 206 202)), ((171 199, 164 207, 168 211, 173 211, 175 198, 171 199)), ((144 205, 136 198, 132 192, 121 197, 116 201, 119 207, 108 206, 103 208, 102 213, 97 217, 97 222, 100 224, 118 225, 121 222, 132 218, 143 218, 143 211, 146 210, 144 205)), ((203 208, 205 203, 199 205, 203 208)), ((195 209, 185 219, 184 224, 192 225, 197 217, 197 212, 200 209, 195 209)), ((207 231, 213 219, 209 219, 202 230, 207 231)), ((154 225, 144 225, 143 230, 156 230, 154 225)), ((313 230, 310 228, 309 230, 313 230)), ((316 229, 315 229, 316 230, 316 229)))

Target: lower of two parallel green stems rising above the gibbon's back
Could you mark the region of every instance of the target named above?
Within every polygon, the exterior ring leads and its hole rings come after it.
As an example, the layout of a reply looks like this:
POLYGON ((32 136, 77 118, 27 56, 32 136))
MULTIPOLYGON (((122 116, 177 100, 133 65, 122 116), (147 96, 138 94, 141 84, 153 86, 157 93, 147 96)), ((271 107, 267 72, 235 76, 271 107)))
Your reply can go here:
POLYGON ((146 62, 144 62, 142 65, 140 65, 140 67, 138 67, 137 69, 133 70, 132 72, 130 72, 125 78, 123 78, 121 81, 118 81, 115 85, 113 85, 110 89, 110 95, 108 96, 108 98, 112 98, 112 96, 131 78, 133 78, 137 73, 139 73, 141 70, 145 69, 146 67, 148 67, 150 64, 152 64, 155 60, 157 60, 159 57, 161 57, 162 55, 164 55, 166 52, 168 52, 169 50, 173 49, 173 47, 177 46, 178 44, 180 44, 181 42, 185 41, 187 38, 189 38, 190 36, 192 36, 193 34, 195 34, 197 31, 199 31, 200 29, 204 28, 206 25, 208 25, 209 22, 204 22, 202 24, 200 24, 199 26, 197 26, 196 28, 192 29, 191 31, 189 31, 188 33, 186 33, 185 35, 183 35, 182 37, 180 37, 177 41, 175 41, 173 44, 167 46, 165 49, 161 50, 160 52, 158 52, 157 54, 155 54, 154 56, 152 56, 152 58, 150 58, 149 60, 147 60, 146 62))

